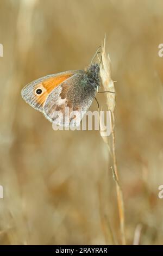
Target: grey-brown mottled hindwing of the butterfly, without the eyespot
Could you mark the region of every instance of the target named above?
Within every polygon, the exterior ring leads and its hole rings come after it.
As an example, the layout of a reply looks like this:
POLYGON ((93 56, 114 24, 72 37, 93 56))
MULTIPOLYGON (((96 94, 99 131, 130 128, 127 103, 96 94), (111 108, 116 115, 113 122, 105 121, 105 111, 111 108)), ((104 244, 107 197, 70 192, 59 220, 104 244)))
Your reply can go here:
POLYGON ((87 76, 74 74, 48 95, 45 105, 45 117, 59 126, 78 126, 90 107, 96 90, 87 84, 87 76))

